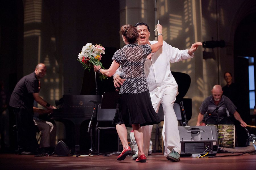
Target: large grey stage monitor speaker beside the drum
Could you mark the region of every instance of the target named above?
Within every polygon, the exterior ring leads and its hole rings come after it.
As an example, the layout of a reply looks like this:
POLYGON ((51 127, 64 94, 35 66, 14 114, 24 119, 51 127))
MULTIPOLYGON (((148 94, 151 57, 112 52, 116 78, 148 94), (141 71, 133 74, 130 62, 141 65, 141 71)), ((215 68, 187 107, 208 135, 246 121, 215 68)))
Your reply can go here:
POLYGON ((218 132, 215 126, 179 126, 181 155, 216 154, 218 132))

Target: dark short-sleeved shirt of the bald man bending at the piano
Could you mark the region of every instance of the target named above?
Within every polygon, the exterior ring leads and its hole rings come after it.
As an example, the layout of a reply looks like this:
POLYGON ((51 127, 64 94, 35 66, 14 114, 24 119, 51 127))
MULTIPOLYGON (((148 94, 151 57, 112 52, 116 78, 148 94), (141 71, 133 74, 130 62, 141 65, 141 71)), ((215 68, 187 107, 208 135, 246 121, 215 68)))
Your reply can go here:
POLYGON ((35 72, 22 77, 13 90, 9 105, 15 108, 33 109, 33 93, 39 92, 38 86, 35 72))

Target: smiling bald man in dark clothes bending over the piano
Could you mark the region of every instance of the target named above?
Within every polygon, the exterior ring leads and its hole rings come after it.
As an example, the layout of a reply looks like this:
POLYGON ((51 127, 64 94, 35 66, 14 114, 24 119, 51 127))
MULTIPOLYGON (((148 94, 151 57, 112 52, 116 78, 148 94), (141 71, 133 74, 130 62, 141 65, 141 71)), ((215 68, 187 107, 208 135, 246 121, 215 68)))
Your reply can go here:
POLYGON ((38 144, 33 121, 34 100, 52 111, 54 106, 39 96, 38 80, 46 75, 46 65, 39 63, 33 73, 26 75, 16 84, 10 99, 10 111, 16 115, 18 154, 37 154, 38 144))

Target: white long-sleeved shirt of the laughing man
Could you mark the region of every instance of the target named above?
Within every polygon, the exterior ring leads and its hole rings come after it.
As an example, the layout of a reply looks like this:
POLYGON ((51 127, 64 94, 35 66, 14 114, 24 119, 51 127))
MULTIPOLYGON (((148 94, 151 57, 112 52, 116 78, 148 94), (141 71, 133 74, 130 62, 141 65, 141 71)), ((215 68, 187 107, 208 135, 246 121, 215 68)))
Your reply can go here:
MULTIPOLYGON (((149 42, 150 44, 155 44, 157 41, 149 42)), ((163 46, 157 52, 152 53, 151 59, 146 59, 144 71, 152 104, 156 103, 157 98, 162 98, 165 88, 170 86, 178 88, 170 70, 170 63, 193 57, 194 54, 190 56, 188 50, 179 50, 164 41, 163 46)), ((119 68, 115 74, 120 75, 121 72, 122 69, 119 68)))

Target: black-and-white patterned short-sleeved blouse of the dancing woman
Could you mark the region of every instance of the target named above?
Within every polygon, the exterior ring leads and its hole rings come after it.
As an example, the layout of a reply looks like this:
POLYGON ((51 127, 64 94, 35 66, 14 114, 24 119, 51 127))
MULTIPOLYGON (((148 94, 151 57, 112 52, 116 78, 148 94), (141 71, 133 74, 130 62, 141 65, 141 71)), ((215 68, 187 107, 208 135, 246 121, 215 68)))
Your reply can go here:
POLYGON ((123 68, 123 78, 126 81, 120 88, 119 94, 137 94, 148 90, 148 83, 144 73, 144 64, 147 56, 151 53, 151 47, 138 44, 127 44, 117 50, 112 58, 123 68))

